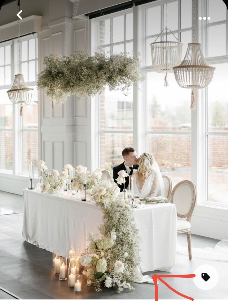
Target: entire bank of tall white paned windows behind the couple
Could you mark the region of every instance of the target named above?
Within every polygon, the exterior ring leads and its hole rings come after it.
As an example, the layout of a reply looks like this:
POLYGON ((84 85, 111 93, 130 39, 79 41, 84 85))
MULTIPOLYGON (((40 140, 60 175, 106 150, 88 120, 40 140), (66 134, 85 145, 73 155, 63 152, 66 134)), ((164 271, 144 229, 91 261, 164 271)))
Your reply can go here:
MULTIPOLYGON (((191 5, 190 0, 168 1, 168 28, 183 43, 182 59, 192 41, 191 5)), ((99 136, 92 162, 110 169, 123 161, 122 149, 133 145, 138 155, 154 154, 173 186, 186 179, 195 182, 198 205, 219 208, 228 205, 228 13, 222 0, 199 0, 195 11, 198 41, 208 64, 216 67, 209 86, 195 91, 196 110, 189 108, 191 90, 180 88, 173 73, 168 74, 169 87, 164 87, 164 74, 153 70, 150 43, 166 25, 165 1, 92 20, 97 37, 93 50, 109 54, 134 48, 141 52, 145 77, 127 97, 106 88, 92 103, 98 108, 93 132, 99 136)), ((159 39, 165 40, 165 33, 159 39)), ((171 33, 167 39, 175 41, 171 33)))

